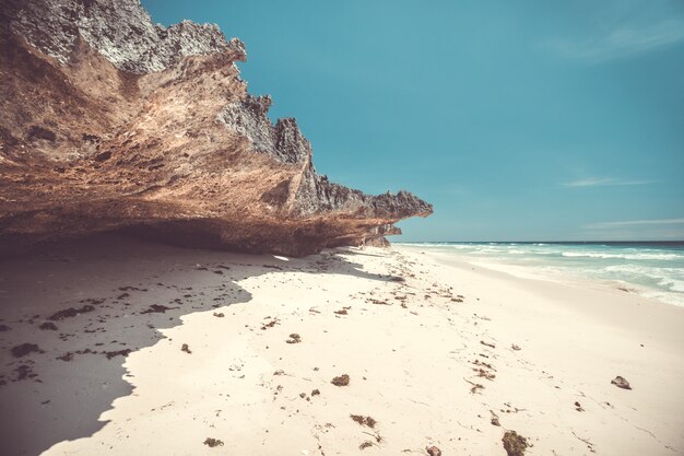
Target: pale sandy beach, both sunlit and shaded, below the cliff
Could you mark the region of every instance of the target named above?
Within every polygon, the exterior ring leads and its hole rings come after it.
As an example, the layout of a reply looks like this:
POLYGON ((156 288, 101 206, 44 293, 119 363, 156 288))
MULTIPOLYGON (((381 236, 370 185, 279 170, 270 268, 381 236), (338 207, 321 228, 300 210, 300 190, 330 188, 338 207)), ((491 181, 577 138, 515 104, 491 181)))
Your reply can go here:
POLYGON ((0 304, 2 455, 684 454, 684 308, 605 287, 104 236, 0 261, 0 304))

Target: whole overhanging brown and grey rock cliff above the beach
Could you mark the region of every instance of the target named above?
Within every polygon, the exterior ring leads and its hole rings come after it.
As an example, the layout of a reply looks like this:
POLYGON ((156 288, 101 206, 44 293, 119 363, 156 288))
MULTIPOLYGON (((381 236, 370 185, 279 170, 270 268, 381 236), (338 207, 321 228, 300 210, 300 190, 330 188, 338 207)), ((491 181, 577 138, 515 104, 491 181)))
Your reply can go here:
POLYGON ((426 217, 316 174, 295 119, 247 94, 238 39, 138 0, 0 0, 0 253, 125 230, 306 255, 426 217))

